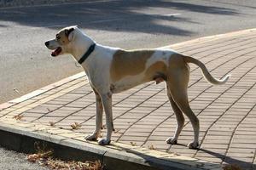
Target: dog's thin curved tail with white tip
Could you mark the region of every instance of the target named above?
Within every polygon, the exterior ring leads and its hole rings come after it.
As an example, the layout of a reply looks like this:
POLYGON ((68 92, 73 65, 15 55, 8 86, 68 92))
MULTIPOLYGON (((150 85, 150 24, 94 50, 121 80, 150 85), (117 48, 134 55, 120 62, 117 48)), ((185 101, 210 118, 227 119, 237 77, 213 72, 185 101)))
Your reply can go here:
POLYGON ((225 82, 227 82, 229 80, 229 78, 231 76, 231 75, 226 75, 221 80, 218 80, 218 79, 212 77, 210 72, 207 70, 206 65, 201 63, 200 60, 194 59, 194 58, 189 57, 189 56, 184 56, 184 60, 185 60, 186 63, 193 63, 195 65, 198 65, 201 68, 201 71, 202 71, 204 77, 207 79, 208 82, 211 82, 212 84, 215 84, 215 85, 224 84, 225 82))

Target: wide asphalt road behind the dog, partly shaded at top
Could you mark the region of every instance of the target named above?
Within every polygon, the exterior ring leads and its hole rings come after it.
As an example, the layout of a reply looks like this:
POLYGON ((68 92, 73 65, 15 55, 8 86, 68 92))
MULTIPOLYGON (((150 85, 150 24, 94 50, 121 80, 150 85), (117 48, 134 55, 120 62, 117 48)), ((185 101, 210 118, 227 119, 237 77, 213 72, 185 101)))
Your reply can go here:
POLYGON ((156 48, 256 27, 256 1, 87 1, 0 8, 0 103, 82 71, 44 42, 64 26, 120 48, 156 48))

